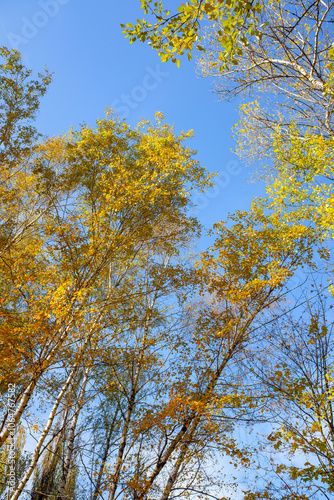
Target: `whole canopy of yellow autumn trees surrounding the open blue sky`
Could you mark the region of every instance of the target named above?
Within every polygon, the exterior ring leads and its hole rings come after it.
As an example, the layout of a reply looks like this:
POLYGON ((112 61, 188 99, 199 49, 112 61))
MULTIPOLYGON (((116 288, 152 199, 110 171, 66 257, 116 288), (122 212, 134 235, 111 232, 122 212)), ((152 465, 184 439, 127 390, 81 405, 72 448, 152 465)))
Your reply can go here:
POLYGON ((243 98, 266 194, 194 252, 192 132, 108 109, 43 138, 51 76, 1 49, 1 498, 329 499, 334 4, 141 5, 131 42, 243 98))

